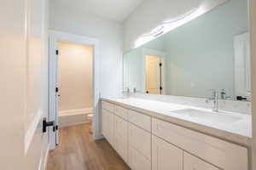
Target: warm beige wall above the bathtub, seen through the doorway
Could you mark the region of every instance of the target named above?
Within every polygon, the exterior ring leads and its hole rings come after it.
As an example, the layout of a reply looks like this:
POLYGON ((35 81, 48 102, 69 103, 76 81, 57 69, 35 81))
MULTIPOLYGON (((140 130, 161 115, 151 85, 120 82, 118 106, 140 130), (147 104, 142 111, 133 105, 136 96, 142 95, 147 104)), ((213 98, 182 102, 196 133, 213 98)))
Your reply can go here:
POLYGON ((58 42, 59 111, 92 107, 93 47, 58 42))

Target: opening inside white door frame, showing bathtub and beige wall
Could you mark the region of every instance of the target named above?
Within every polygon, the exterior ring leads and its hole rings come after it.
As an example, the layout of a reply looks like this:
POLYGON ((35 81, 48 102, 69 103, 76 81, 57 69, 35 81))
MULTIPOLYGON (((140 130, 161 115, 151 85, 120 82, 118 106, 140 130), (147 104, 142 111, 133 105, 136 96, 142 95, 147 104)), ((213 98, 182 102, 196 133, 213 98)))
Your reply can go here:
POLYGON ((59 127, 90 123, 93 46, 62 41, 58 41, 57 46, 59 127))

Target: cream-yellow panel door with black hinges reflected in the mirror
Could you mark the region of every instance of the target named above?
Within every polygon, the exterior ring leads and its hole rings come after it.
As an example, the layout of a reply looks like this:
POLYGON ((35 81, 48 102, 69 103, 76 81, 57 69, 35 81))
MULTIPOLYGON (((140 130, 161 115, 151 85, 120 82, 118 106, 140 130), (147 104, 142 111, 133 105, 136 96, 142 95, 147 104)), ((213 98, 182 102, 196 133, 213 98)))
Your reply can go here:
POLYGON ((146 92, 147 94, 161 94, 161 58, 146 55, 146 92))

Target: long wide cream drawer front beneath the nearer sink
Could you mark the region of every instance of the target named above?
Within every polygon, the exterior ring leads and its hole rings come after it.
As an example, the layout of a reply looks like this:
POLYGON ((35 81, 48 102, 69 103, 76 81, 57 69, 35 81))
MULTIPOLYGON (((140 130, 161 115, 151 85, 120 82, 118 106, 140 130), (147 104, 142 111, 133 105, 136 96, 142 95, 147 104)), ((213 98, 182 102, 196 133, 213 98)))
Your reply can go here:
POLYGON ((224 170, 248 169, 247 148, 240 145, 159 119, 152 120, 152 133, 224 170))

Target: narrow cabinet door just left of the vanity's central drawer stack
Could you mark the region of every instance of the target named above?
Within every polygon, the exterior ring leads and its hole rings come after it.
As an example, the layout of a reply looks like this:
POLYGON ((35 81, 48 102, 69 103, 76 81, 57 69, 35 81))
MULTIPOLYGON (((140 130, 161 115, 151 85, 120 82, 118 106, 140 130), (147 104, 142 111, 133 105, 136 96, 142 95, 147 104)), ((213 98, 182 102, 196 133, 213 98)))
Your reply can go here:
POLYGON ((115 149, 124 161, 128 161, 128 122, 119 116, 115 116, 114 122, 115 149))

